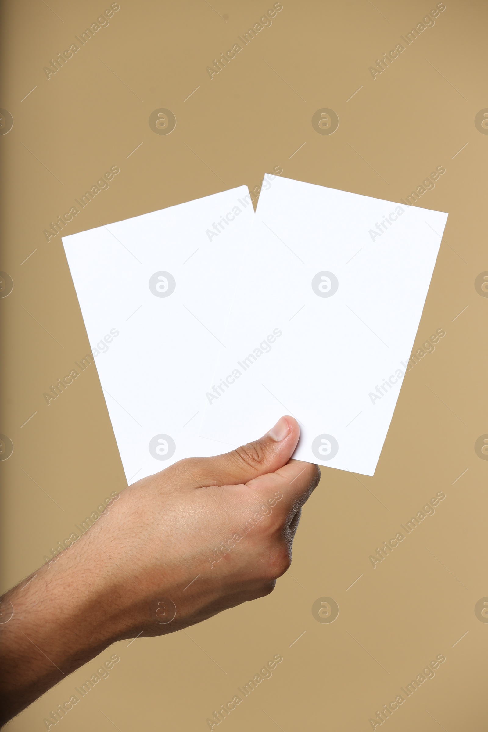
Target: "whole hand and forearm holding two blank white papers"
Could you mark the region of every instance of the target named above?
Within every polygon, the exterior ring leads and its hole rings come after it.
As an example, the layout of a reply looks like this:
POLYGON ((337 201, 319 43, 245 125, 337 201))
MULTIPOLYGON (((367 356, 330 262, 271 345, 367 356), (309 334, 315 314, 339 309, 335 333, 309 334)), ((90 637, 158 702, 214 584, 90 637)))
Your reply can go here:
POLYGON ((134 483, 4 595, 1 724, 115 641, 181 630, 269 594, 320 479, 318 466, 290 460, 298 440, 296 420, 282 417, 233 452, 134 483))

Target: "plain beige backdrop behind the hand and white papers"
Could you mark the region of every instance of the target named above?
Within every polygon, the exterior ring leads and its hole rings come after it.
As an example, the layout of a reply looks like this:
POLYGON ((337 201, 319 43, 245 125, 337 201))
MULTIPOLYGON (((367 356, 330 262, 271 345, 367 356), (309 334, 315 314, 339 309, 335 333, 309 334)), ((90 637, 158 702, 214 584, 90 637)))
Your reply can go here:
MULTIPOLYGON (((275 165, 290 178, 391 201, 444 165, 419 202, 449 217, 417 341, 439 328, 446 336, 406 376, 375 477, 323 468, 291 572, 274 593, 186 634, 117 643, 100 661, 114 652, 121 661, 60 722, 64 732, 203 731, 277 653, 282 664, 230 714, 228 732, 366 731, 438 654, 446 662, 388 729, 486 729, 488 624, 474 606, 488 595, 488 462, 474 443, 488 432, 488 299, 474 280, 488 269, 488 135, 474 118, 488 107, 487 5, 446 0, 435 26, 375 80, 369 66, 435 2, 283 0, 272 26, 212 80, 206 67, 272 3, 120 5, 49 80, 43 67, 109 3, 3 7, 0 106, 14 118, 0 137, 0 269, 14 281, 0 302, 0 432, 14 444, 0 465, 3 589, 124 485, 96 371, 50 406, 42 398, 89 349, 61 236, 48 243, 42 231, 111 165, 119 176, 67 233, 225 186, 255 187, 275 165), (148 124, 162 107, 176 115, 170 135, 148 124), (312 128, 324 107, 339 116, 334 135, 312 128), (368 556, 438 490, 446 499, 435 515, 373 569, 368 556), (333 624, 312 616, 323 596, 339 604, 333 624)), ((62 681, 7 729, 44 729, 43 718, 98 665, 62 681)))

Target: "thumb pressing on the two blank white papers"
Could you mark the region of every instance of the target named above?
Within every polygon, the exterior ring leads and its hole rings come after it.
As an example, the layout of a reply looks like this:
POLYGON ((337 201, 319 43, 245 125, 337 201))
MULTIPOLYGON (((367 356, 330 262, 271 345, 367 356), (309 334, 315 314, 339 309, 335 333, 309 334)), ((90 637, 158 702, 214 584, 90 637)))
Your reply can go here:
POLYGON ((192 458, 185 462, 200 488, 209 485, 239 485, 288 463, 299 441, 299 423, 281 417, 263 437, 215 458, 192 458))

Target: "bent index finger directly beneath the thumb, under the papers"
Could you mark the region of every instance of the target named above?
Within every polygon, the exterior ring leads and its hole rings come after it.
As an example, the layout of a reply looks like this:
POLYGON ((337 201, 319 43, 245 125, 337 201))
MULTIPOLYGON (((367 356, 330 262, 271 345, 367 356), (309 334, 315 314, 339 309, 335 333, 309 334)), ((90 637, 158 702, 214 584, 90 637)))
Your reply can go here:
POLYGON ((320 481, 320 468, 313 463, 290 461, 274 473, 261 475, 247 482, 247 488, 254 490, 260 498, 282 494, 279 505, 290 520, 301 509, 320 481))

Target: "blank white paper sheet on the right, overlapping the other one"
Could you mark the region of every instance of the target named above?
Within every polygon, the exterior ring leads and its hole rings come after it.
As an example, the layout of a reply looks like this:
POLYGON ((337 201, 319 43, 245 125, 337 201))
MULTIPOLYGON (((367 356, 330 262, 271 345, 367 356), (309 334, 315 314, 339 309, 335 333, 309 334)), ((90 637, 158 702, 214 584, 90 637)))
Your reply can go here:
POLYGON ((446 220, 266 176, 200 434, 231 449, 291 414, 294 458, 373 475, 446 220))

